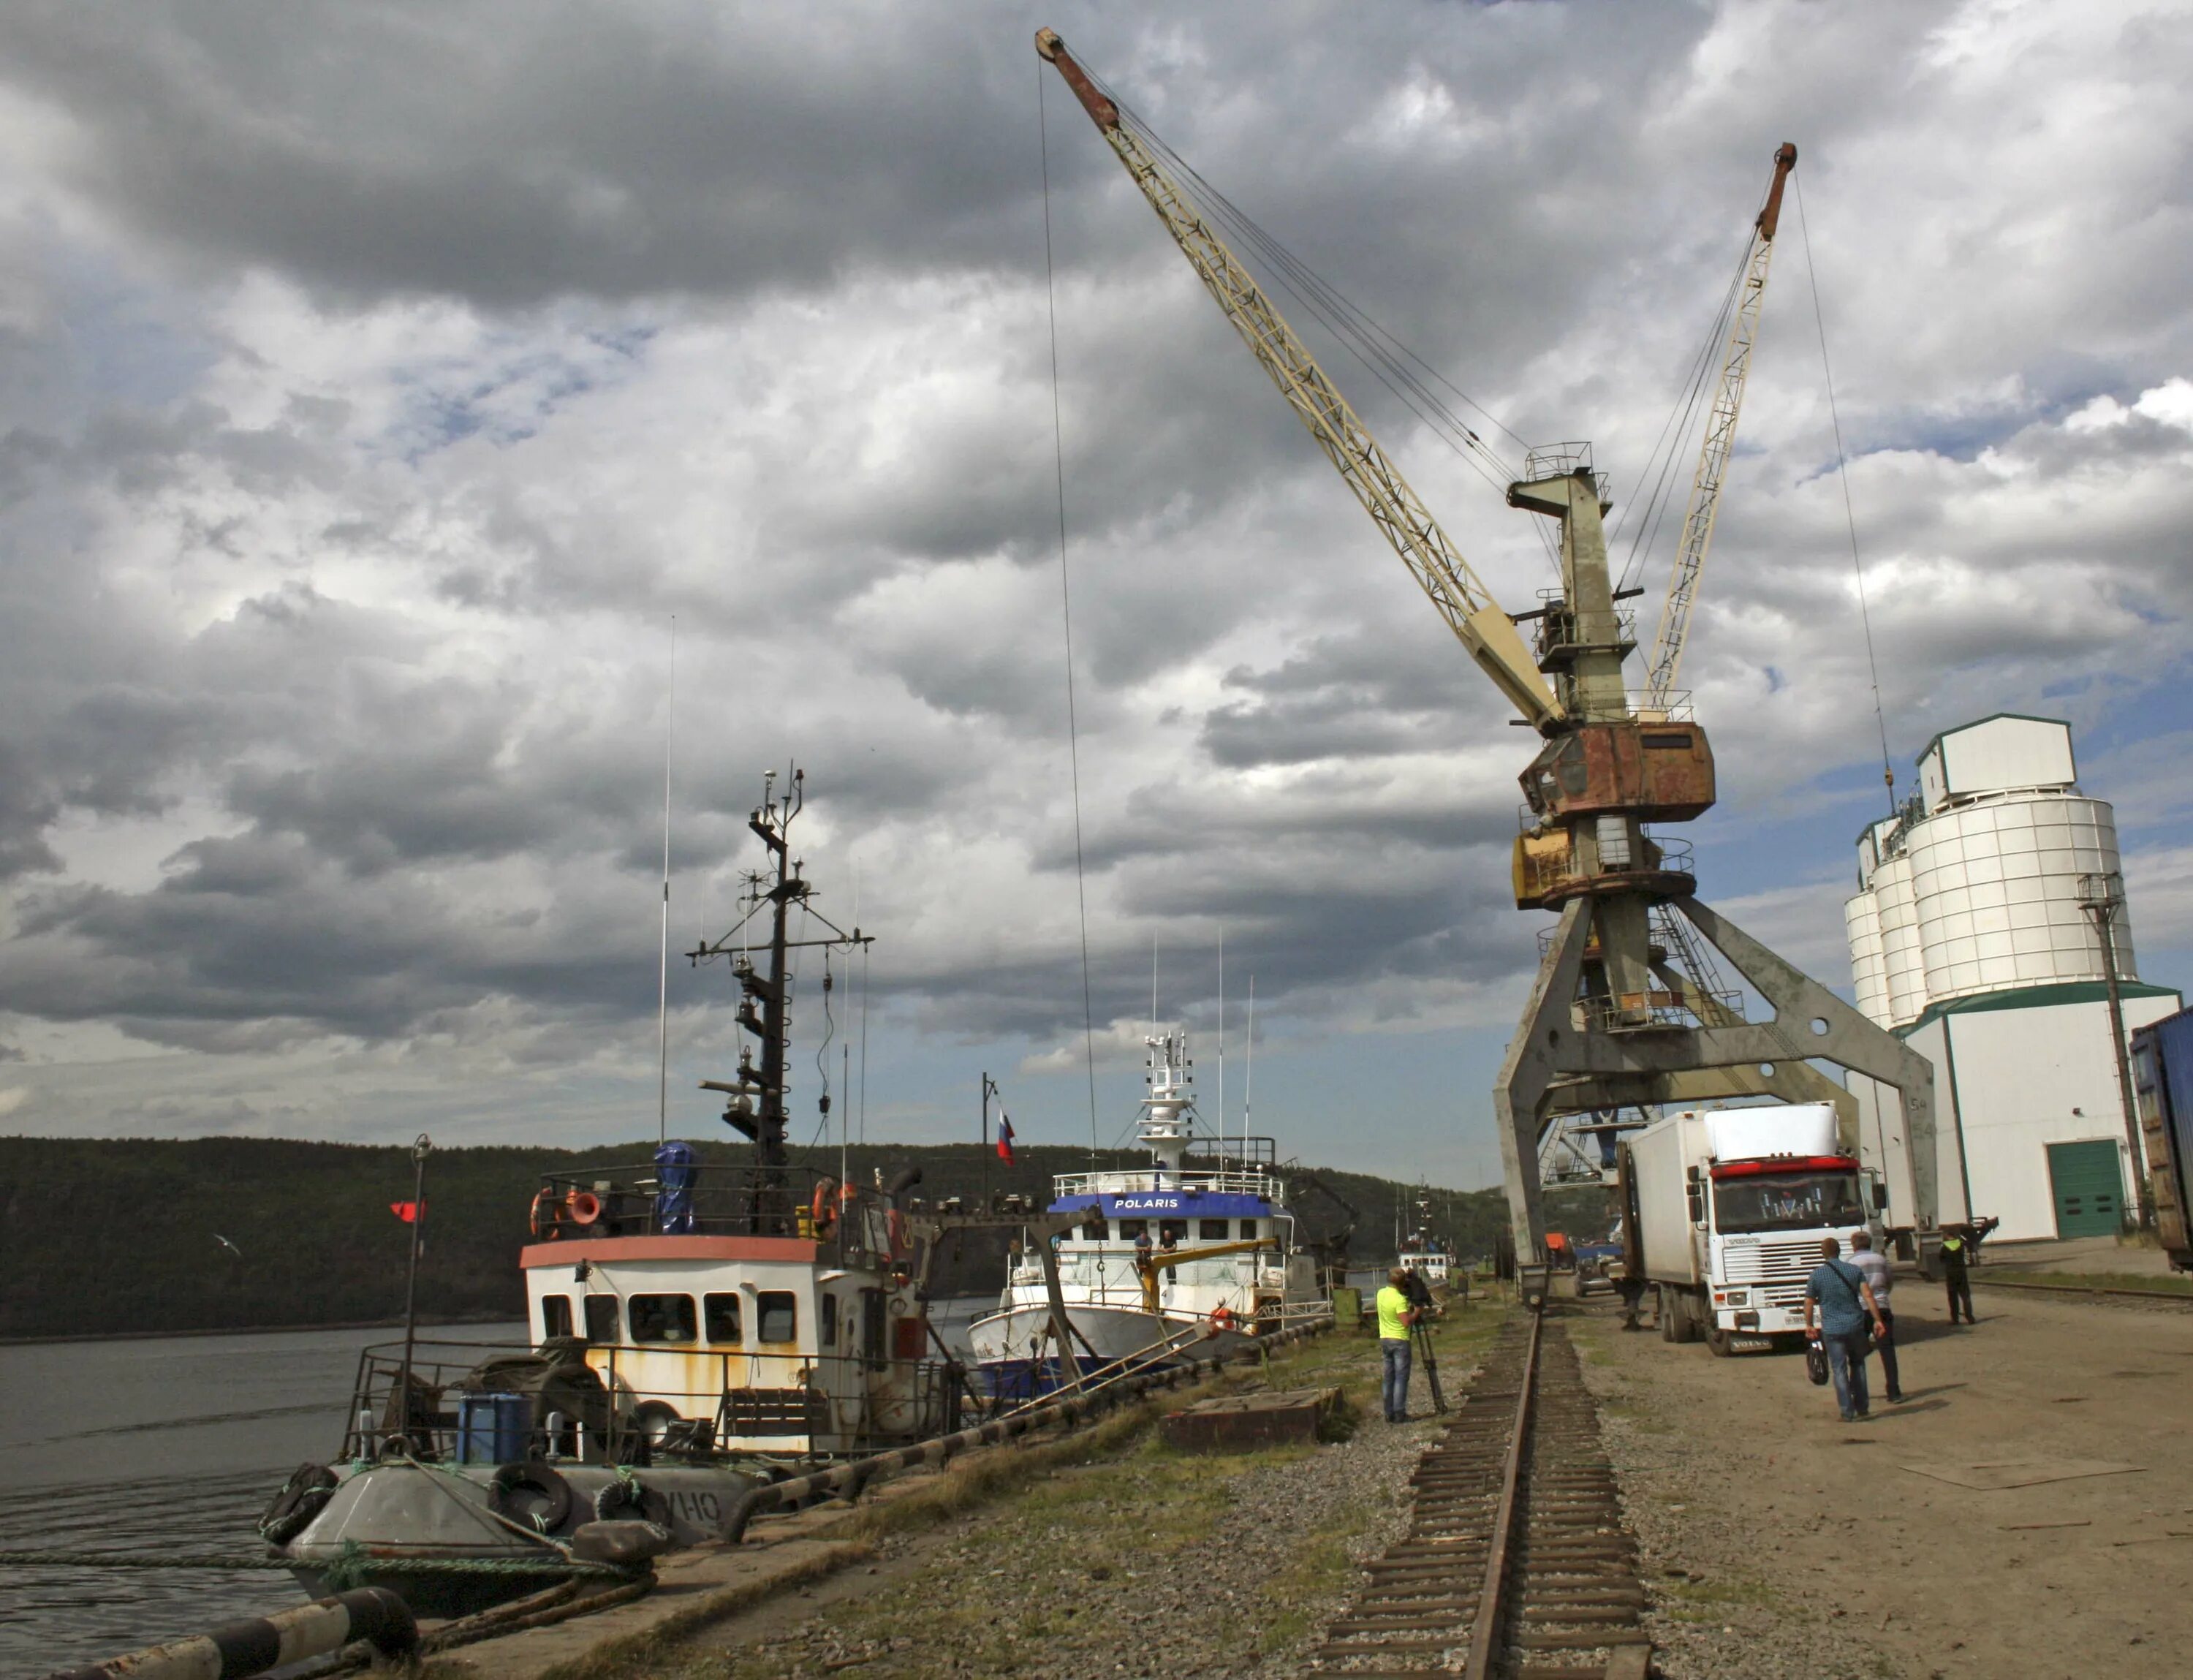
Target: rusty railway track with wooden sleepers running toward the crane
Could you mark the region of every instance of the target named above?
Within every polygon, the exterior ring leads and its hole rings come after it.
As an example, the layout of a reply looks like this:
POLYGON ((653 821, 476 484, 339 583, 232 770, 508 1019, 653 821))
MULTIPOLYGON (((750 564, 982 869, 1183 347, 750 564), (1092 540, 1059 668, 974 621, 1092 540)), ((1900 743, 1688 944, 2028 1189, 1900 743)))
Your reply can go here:
POLYGON ((1408 1535, 1364 1566, 1318 1673, 1645 1680, 1636 1540, 1559 1323, 1500 1333, 1412 1485, 1408 1535))

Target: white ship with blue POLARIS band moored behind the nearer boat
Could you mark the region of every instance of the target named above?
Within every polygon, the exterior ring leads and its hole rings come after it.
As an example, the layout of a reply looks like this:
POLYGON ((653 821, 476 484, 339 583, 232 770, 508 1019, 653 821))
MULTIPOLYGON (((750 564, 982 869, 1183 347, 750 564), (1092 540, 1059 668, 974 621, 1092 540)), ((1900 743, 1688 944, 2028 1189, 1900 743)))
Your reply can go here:
MULTIPOLYGON (((1149 1167, 1059 1173, 1050 1213, 1086 1215, 1053 1237, 1070 1355, 1083 1375, 1118 1364, 1232 1353, 1329 1312, 1296 1244, 1272 1138, 1197 1136, 1184 1031, 1149 1040, 1136 1140, 1149 1167)), ((1066 1371, 1042 1252, 1013 1255, 998 1312, 967 1329, 991 1393, 1042 1393, 1066 1371)))

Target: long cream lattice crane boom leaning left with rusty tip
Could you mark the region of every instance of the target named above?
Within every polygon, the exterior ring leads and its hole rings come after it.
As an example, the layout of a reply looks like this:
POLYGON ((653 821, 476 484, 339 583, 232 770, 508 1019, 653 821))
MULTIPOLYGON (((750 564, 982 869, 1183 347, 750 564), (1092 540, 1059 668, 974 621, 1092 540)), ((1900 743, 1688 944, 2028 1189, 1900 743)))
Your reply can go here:
POLYGON ((1491 590, 1463 559, 1454 540, 1439 529, 1439 520, 1355 417, 1347 397, 1325 377, 1325 368, 1318 366, 1294 327, 1195 213, 1180 184, 1158 167, 1140 136, 1121 123, 1118 105, 1105 99, 1088 72, 1075 64, 1057 31, 1037 31, 1035 50, 1057 66, 1066 86, 1072 88, 1081 107, 1127 167, 1134 184, 1143 189, 1143 197, 1149 200, 1164 230, 1173 235, 1173 243, 1180 246, 1189 265, 1226 311, 1226 320, 1241 333, 1263 371, 1272 375, 1279 395, 1287 399, 1318 447, 1340 469, 1349 489, 1355 491, 1355 500, 1386 533, 1386 542, 1401 555, 1410 575, 1432 597, 1439 616, 1469 649, 1469 658, 1533 728, 1555 730, 1566 713, 1539 673, 1537 660, 1524 647, 1515 621, 1493 601, 1491 590))

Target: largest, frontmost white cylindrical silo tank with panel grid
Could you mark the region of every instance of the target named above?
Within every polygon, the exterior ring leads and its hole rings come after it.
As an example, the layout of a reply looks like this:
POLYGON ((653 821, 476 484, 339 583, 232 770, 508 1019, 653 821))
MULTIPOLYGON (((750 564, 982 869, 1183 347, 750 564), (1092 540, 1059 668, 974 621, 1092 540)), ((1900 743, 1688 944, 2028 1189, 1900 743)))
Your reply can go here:
MULTIPOLYGON (((2079 794, 2011 794, 1956 805, 1906 840, 1932 998, 2101 980, 2101 939, 2079 908, 2081 877, 2114 875, 2116 818, 2079 794)), ((2116 972, 2138 978, 2116 921, 2116 972)))

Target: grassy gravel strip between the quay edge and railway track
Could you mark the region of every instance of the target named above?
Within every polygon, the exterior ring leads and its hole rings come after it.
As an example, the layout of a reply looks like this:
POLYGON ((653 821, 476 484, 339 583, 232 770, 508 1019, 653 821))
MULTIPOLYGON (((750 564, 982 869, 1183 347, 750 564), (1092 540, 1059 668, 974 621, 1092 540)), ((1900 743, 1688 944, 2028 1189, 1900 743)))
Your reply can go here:
MULTIPOLYGON (((1493 1312, 1441 1331, 1458 1386, 1493 1312)), ((1353 1594, 1357 1564, 1408 1526, 1408 1476, 1436 1432, 1421 1371, 1412 1410, 1377 1417, 1377 1344, 1333 1336, 1274 1362, 1272 1386, 1342 1384, 1353 1439, 1259 1454, 1186 1456, 1145 1439, 1059 1469, 882 1557, 816 1603, 776 1605, 700 1634, 660 1671, 680 1680, 785 1676, 1143 1673, 1279 1680, 1353 1594)))

